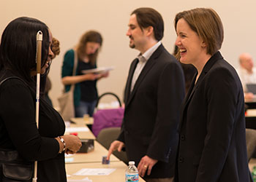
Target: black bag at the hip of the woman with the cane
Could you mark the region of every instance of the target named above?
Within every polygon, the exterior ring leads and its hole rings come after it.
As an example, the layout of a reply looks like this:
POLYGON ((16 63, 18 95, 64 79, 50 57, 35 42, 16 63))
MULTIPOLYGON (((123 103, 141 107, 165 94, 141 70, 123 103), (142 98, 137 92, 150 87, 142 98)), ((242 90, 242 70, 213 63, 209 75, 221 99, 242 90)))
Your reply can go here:
POLYGON ((0 151, 1 182, 31 182, 34 162, 23 160, 18 151, 0 151))

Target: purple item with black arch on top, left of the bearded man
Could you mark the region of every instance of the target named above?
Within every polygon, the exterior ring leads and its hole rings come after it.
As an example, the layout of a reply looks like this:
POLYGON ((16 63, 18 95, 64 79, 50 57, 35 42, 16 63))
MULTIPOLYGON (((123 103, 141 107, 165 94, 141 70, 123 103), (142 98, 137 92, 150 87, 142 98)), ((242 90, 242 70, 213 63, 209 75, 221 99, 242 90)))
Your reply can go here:
POLYGON ((94 124, 92 124, 91 130, 94 135, 97 137, 100 130, 106 127, 121 127, 122 120, 124 118, 124 108, 121 107, 121 101, 118 96, 112 92, 105 92, 100 95, 97 104, 97 111, 94 113, 94 124), (104 95, 113 95, 116 97, 119 103, 119 108, 105 108, 105 109, 97 109, 99 104, 99 99, 104 95))

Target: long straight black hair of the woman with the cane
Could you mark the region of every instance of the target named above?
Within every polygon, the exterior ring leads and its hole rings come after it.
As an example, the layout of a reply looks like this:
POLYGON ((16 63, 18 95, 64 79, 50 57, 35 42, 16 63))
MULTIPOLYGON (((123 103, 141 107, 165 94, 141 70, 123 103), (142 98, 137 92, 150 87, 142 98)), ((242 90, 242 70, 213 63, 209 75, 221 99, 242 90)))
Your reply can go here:
POLYGON ((42 31, 42 67, 48 58, 49 32, 48 26, 40 20, 31 17, 18 17, 12 20, 1 36, 0 70, 10 70, 32 82, 31 71, 36 70, 35 62, 37 32, 42 31))

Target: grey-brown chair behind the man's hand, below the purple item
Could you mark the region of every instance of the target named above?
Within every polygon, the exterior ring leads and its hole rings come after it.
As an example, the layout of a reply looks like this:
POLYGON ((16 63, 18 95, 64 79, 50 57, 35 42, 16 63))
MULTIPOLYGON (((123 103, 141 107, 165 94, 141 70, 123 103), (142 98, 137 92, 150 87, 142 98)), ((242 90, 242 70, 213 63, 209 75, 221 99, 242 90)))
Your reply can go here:
MULTIPOLYGON (((106 149, 110 148, 110 144, 118 138, 118 135, 121 132, 120 127, 108 127, 104 128, 97 135, 96 140, 102 144, 106 149)), ((128 165, 127 153, 125 151, 113 151, 113 154, 128 165)))

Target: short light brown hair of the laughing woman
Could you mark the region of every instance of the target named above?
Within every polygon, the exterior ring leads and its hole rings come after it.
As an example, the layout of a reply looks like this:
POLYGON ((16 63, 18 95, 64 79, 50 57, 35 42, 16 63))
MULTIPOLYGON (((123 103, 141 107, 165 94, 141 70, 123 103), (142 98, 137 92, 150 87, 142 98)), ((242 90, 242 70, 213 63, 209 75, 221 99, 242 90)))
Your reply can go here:
POLYGON ((222 20, 214 9, 195 8, 179 12, 174 20, 175 29, 181 18, 184 18, 192 31, 195 31, 206 42, 207 54, 214 55, 222 47, 224 38, 222 20))

